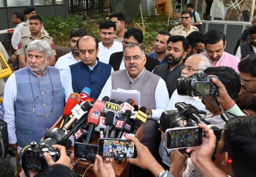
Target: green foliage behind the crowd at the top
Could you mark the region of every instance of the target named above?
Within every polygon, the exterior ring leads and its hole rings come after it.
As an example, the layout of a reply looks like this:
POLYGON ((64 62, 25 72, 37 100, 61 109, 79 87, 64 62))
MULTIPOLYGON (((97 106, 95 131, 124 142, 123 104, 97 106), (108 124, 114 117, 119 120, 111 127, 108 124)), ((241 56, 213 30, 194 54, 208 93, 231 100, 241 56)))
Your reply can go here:
MULTIPOLYGON (((87 17, 85 21, 83 21, 82 16, 79 15, 69 15, 67 19, 50 15, 43 21, 46 31, 54 38, 57 46, 69 46, 69 36, 73 29, 84 29, 88 34, 98 38, 100 41, 98 27, 100 21, 104 20, 108 20, 107 15, 94 13, 92 17, 87 17)), ((167 27, 167 20, 168 18, 164 15, 143 17, 145 25, 145 29, 143 29, 141 16, 137 13, 133 23, 127 25, 126 28, 137 27, 143 31, 143 44, 146 48, 146 52, 148 53, 153 50, 154 40, 156 39, 158 32, 164 30, 169 32, 170 29, 172 29, 172 25, 167 27)))

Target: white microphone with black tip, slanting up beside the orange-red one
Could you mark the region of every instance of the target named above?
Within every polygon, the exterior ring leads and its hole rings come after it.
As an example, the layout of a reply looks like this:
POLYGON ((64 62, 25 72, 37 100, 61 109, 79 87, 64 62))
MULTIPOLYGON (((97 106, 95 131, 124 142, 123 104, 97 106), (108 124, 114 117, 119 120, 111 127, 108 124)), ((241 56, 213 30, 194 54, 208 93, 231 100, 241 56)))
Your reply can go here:
POLYGON ((71 127, 74 121, 79 120, 88 110, 92 107, 92 105, 88 102, 85 102, 81 107, 79 105, 75 105, 75 107, 71 110, 73 114, 71 114, 71 119, 64 125, 63 130, 66 131, 71 127))

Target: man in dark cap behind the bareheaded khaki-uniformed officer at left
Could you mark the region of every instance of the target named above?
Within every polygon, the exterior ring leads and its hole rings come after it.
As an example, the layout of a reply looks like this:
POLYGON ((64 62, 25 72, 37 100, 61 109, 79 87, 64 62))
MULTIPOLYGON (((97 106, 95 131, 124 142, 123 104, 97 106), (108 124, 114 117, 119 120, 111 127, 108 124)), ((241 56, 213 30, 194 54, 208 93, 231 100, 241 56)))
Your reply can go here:
MULTIPOLYGON (((24 9, 23 13, 26 16, 27 21, 22 25, 22 28, 20 29, 18 41, 22 38, 22 36, 30 34, 30 17, 32 15, 36 15, 36 9, 34 8, 34 6, 29 6, 24 9)), ((44 27, 42 27, 42 34, 49 36, 49 34, 45 31, 44 27)))

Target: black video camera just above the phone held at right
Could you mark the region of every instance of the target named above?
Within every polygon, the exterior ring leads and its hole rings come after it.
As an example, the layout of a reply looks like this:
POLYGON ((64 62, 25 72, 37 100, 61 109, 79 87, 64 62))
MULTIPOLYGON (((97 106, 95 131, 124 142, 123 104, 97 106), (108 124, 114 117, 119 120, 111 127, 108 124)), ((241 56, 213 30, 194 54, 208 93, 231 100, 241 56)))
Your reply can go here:
MULTIPOLYGON (((205 121, 200 114, 206 114, 204 111, 198 110, 193 105, 181 102, 176 103, 175 107, 178 111, 164 111, 160 117, 160 128, 162 131, 166 129, 176 128, 176 127, 193 127, 197 126, 198 123, 203 123, 210 127, 214 131, 214 134, 217 137, 217 140, 220 140, 221 130, 211 125, 208 121, 205 121)), ((166 139, 167 147, 170 146, 170 139, 166 139)))

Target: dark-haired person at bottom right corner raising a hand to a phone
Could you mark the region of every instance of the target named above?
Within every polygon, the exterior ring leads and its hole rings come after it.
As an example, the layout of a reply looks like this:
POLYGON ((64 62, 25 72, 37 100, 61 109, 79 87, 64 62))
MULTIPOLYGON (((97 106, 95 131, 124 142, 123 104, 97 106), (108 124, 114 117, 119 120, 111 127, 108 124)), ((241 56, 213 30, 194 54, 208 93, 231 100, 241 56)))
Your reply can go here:
POLYGON ((199 147, 189 148, 191 160, 203 176, 255 176, 256 117, 234 117, 223 131, 216 160, 211 157, 216 145, 216 137, 207 126, 199 124, 206 132, 206 137, 199 147))

